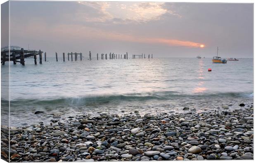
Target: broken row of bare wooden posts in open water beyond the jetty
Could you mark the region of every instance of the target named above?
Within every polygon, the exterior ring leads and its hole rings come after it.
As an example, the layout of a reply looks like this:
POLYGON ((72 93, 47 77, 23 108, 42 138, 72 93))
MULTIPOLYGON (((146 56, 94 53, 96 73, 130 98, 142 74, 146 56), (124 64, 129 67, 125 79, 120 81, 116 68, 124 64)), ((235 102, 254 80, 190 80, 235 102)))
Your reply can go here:
MULTIPOLYGON (((75 61, 77 61, 77 56, 80 55, 80 60, 82 60, 82 53, 68 53, 68 61, 69 61, 69 55, 71 55, 71 61, 73 61, 73 54, 75 55, 75 61)), ((58 54, 57 52, 55 52, 55 56, 56 56, 56 61, 58 61, 58 54)), ((62 54, 63 56, 63 61, 65 61, 65 53, 62 54)), ((144 57, 143 57, 143 54, 141 55, 136 55, 136 54, 133 54, 133 59, 136 58, 136 56, 139 57, 139 59, 143 59, 143 58, 146 58, 145 57, 145 54, 144 54, 144 57)), ((101 59, 107 59, 107 54, 101 54, 101 59)), ((148 55, 148 58, 150 58, 150 54, 148 55)), ((151 54, 151 58, 153 58, 153 54, 151 54)), ((109 53, 109 59, 120 59, 120 54, 114 54, 114 53, 109 53), (118 57, 117 57, 118 56, 118 57)), ((126 54, 123 55, 123 58, 122 58, 122 54, 121 54, 121 59, 128 59, 128 52, 126 52, 126 54)), ((92 54, 91 54, 91 51, 89 51, 89 59, 88 60, 92 60, 92 54)), ((97 53, 97 60, 99 60, 99 54, 97 53)), ((46 53, 45 53, 45 61, 46 61, 46 53)))

